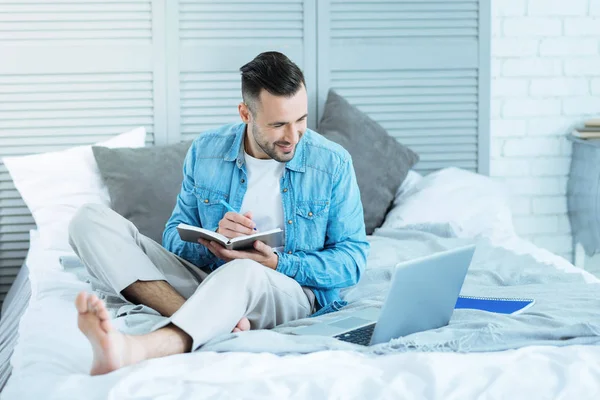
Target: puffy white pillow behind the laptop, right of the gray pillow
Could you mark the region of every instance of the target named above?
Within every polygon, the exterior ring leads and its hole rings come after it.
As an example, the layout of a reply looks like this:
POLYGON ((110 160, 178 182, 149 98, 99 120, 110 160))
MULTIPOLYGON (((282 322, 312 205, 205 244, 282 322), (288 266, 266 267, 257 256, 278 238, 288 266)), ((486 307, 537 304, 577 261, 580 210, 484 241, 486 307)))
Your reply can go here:
POLYGON ((445 168, 396 196, 382 228, 440 223, 449 224, 458 237, 513 236, 507 193, 503 185, 487 176, 445 168))

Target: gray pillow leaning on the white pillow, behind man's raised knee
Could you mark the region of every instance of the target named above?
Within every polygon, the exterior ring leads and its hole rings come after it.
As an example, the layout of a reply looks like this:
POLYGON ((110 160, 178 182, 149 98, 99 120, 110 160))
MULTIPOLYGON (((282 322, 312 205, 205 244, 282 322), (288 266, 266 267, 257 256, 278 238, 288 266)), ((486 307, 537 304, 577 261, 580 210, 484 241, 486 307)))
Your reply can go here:
POLYGON ((111 208, 157 243, 177 201, 192 141, 142 148, 92 146, 111 208))

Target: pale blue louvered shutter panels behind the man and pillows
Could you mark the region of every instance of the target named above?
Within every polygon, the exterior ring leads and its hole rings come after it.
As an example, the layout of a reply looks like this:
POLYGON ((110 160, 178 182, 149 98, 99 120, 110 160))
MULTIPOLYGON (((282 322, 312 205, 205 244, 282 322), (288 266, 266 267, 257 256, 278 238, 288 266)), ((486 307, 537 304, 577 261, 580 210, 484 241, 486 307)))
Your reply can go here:
MULTIPOLYGON (((177 142, 238 121, 239 67, 279 50, 305 73, 309 127, 333 87, 418 152, 418 171, 486 174, 489 3, 3 1, 0 158, 140 125, 149 144, 177 142)), ((0 300, 34 227, 0 163, 0 300)))

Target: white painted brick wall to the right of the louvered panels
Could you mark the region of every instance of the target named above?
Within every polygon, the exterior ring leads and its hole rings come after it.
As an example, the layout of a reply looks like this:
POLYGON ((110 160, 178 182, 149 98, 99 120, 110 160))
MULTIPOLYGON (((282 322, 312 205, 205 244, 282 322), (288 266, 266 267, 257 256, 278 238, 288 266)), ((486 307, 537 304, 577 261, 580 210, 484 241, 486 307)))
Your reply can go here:
POLYGON ((517 232, 572 257, 564 136, 600 117, 600 0, 492 0, 491 175, 517 232))

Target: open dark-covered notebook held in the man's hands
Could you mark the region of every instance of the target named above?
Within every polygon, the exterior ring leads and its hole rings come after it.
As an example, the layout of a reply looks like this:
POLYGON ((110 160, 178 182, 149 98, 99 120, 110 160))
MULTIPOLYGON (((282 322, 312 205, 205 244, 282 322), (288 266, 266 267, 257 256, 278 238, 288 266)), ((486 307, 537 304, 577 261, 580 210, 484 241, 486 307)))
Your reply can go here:
POLYGON ((179 237, 181 240, 186 242, 198 243, 198 239, 202 238, 221 243, 223 247, 229 250, 252 249, 256 240, 260 240, 267 246, 271 246, 273 248, 284 245, 283 231, 280 228, 271 229, 265 232, 258 232, 247 236, 238 236, 233 239, 229 239, 220 233, 208 229, 187 224, 177 225, 177 231, 179 232, 179 237))

